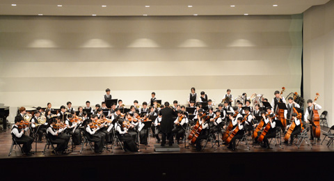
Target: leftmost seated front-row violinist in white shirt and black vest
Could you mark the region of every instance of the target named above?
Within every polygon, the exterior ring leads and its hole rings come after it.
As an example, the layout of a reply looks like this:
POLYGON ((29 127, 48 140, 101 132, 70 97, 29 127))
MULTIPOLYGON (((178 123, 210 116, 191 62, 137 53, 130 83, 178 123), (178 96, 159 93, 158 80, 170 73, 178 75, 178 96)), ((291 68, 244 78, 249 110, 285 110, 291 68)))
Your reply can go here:
POLYGON ((24 134, 29 130, 29 127, 19 129, 19 125, 21 123, 21 120, 23 120, 23 115, 24 113, 26 113, 26 109, 24 107, 21 107, 19 109, 19 112, 19 115, 15 117, 15 124, 12 127, 11 134, 15 138, 17 144, 23 144, 22 151, 24 152, 24 154, 30 156, 32 155, 32 152, 30 152, 30 150, 31 144, 33 143, 33 138, 24 134))

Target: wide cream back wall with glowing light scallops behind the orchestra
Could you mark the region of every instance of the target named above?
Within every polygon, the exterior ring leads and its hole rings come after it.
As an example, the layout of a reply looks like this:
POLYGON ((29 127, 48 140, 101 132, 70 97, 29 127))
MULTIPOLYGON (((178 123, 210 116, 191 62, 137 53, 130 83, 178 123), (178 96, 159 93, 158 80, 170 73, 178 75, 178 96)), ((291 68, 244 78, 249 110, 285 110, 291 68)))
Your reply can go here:
MULTIPOLYGON (((287 88, 300 92, 302 15, 225 17, 0 17, 0 102, 55 107, 186 103, 190 88, 220 102, 287 88)), ((287 94, 286 94, 287 95, 287 94)))

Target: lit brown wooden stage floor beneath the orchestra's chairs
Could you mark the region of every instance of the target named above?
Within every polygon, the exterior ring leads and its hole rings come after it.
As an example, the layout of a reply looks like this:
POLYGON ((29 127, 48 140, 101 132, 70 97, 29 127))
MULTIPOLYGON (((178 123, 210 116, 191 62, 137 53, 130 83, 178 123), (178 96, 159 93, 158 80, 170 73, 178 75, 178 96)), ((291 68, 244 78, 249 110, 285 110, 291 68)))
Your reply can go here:
MULTIPOLYGON (((322 127, 321 128, 324 131, 327 131, 328 128, 322 127)), ((321 135, 321 139, 323 139, 324 136, 321 135)), ((283 139, 282 139, 283 140, 283 139)), ((250 141, 251 142, 251 141, 250 141)), ((10 132, 1 132, 0 133, 0 159, 1 158, 8 158, 8 153, 10 150, 10 145, 12 143, 10 132)), ((318 141, 318 143, 321 143, 321 141, 318 141)), ((250 150, 246 147, 244 144, 240 144, 237 147, 237 150, 232 151, 226 148, 225 145, 214 146, 212 148, 212 142, 208 142, 207 146, 204 150, 202 150, 200 153, 208 153, 208 152, 214 152, 214 153, 225 153, 225 152, 333 152, 334 146, 331 145, 330 148, 327 148, 326 146, 327 141, 324 141, 323 145, 317 144, 312 145, 312 149, 310 146, 306 145, 305 142, 302 143, 300 148, 297 148, 296 145, 287 146, 283 144, 283 148, 280 148, 279 145, 274 145, 273 141, 271 143, 272 150, 267 150, 265 148, 261 148, 259 145, 256 145, 253 147, 253 145, 249 145, 250 150)), ((90 148, 84 149, 82 154, 79 154, 79 150, 81 150, 81 145, 77 146, 77 148, 74 148, 74 152, 70 152, 67 155, 53 155, 51 153, 51 150, 48 150, 45 155, 43 155, 42 150, 45 148, 45 140, 43 138, 42 143, 37 143, 37 149, 35 142, 33 143, 33 149, 31 151, 35 152, 34 155, 29 157, 72 157, 72 156, 85 156, 85 155, 143 155, 143 154, 166 154, 166 152, 154 152, 154 144, 156 143, 156 139, 152 136, 150 137, 150 143, 148 145, 140 145, 140 152, 124 152, 121 150, 121 148, 118 146, 114 150, 104 150, 102 154, 95 154, 90 148)), ((188 142, 186 142, 186 145, 189 145, 188 142)), ((181 150, 180 152, 168 152, 168 154, 175 154, 175 153, 193 153, 197 151, 195 150, 193 145, 189 145, 189 148, 184 148, 184 143, 179 144, 181 150)), ((111 145, 109 145, 111 147, 111 145)), ((15 150, 12 152, 12 155, 10 158, 17 158, 17 157, 26 157, 22 156, 19 152, 19 150, 15 150)))

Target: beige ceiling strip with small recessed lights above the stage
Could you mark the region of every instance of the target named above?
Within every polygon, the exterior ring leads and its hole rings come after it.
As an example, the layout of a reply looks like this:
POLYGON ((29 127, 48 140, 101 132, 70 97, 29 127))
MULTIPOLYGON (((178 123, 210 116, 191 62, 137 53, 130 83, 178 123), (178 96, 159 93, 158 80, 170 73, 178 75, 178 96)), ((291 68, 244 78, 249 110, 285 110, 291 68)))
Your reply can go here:
POLYGON ((328 1, 331 0, 0 0, 0 15, 292 15, 328 1))

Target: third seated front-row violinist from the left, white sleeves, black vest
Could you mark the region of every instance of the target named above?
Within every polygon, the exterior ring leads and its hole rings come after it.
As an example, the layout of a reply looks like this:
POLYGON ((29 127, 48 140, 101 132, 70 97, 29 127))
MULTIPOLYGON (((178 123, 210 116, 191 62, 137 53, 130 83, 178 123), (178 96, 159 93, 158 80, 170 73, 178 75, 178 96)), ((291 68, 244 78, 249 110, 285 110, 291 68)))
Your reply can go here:
MULTIPOLYGON (((96 115, 95 115, 96 116, 96 115)), ((94 118, 96 118, 94 116, 94 118)), ((88 121, 88 125, 86 126, 86 132, 87 132, 87 139, 88 141, 94 142, 94 152, 95 153, 101 153, 103 148, 103 140, 104 137, 101 134, 98 134, 97 131, 100 129, 100 127, 93 127, 93 119, 88 121)))

